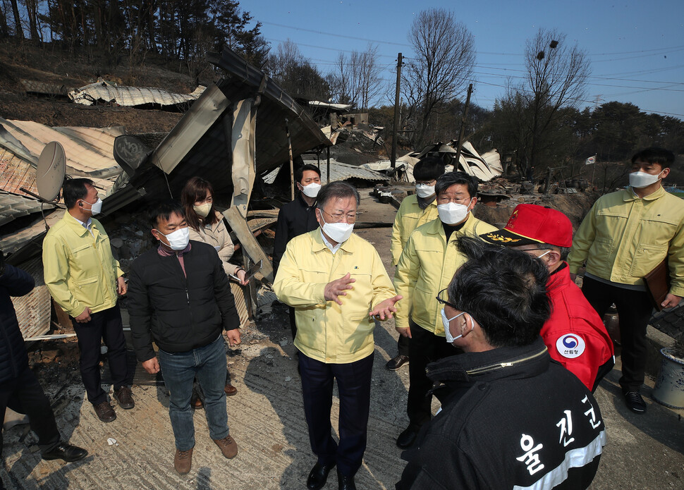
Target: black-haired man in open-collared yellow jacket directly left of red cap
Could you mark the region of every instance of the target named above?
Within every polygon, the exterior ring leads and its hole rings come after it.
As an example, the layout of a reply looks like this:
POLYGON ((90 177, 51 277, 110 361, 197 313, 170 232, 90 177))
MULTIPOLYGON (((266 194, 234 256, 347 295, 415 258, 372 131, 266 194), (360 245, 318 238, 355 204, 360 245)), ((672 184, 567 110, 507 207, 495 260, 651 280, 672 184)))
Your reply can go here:
POLYGON ((406 298, 397 305, 396 329, 409 337, 410 359, 407 412, 409 425, 399 434, 397 446, 413 445, 423 424, 432 417, 429 362, 460 353, 446 343, 441 305, 435 299, 449 283, 465 256, 456 249, 459 236, 477 236, 496 228, 472 216, 477 203, 477 179, 464 172, 445 173, 434 188, 439 219, 411 233, 401 253, 394 287, 406 298))

